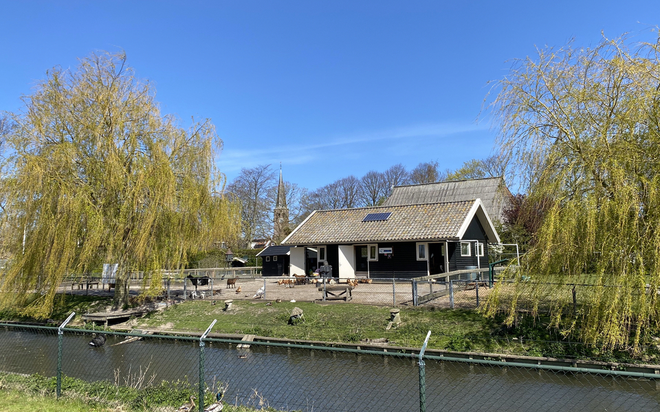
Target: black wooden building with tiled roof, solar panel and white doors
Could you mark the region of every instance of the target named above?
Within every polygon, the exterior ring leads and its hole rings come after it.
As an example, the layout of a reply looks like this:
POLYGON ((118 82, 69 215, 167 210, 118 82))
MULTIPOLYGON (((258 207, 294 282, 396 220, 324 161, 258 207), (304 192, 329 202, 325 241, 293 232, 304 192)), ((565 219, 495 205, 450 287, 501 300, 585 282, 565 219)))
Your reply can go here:
POLYGON ((480 199, 314 211, 282 242, 289 273, 410 278, 488 264, 498 234, 480 199))

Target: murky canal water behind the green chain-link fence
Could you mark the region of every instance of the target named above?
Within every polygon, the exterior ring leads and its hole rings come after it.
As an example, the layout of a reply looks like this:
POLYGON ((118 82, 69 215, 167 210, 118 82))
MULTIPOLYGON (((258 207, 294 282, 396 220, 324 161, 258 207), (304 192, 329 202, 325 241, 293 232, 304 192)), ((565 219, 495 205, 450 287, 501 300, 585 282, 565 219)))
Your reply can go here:
POLYGON ((59 332, 0 324, 0 370, 44 376, 57 376, 59 370, 61 376, 109 381, 118 387, 187 381, 203 392, 225 385, 228 404, 284 411, 660 409, 658 371, 453 358, 432 351, 423 356, 422 368, 419 354, 391 348, 118 332, 102 332, 104 345, 90 347, 94 331, 61 328, 59 332))

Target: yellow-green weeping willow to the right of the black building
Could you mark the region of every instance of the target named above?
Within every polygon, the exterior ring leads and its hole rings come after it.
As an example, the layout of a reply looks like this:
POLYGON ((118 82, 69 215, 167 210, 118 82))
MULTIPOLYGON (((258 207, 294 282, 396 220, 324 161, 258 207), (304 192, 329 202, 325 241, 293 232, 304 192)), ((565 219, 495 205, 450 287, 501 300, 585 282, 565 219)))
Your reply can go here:
POLYGON ((500 147, 551 206, 483 310, 548 310, 566 335, 639 350, 660 321, 660 38, 542 49, 498 88, 500 147), (594 286, 574 308, 569 284, 594 286))

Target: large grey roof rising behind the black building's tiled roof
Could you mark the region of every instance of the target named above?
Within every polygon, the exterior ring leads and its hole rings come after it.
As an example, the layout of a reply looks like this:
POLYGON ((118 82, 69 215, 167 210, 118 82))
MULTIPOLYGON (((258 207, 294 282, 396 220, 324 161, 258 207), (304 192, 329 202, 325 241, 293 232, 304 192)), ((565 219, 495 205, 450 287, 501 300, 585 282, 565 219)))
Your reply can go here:
POLYGON ((384 206, 419 205, 426 203, 462 202, 479 198, 492 218, 503 220, 507 189, 502 177, 423 183, 421 185, 395 186, 384 206))

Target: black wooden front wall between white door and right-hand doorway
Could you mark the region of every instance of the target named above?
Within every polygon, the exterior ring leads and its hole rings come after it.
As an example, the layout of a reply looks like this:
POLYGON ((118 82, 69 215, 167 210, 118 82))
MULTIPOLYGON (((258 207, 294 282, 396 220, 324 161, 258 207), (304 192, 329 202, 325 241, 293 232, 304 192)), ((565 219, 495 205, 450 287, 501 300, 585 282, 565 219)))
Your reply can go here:
POLYGON ((392 258, 379 253, 377 262, 369 262, 369 277, 410 279, 428 274, 428 262, 417 260, 416 242, 378 243, 378 247, 391 247, 392 258))

